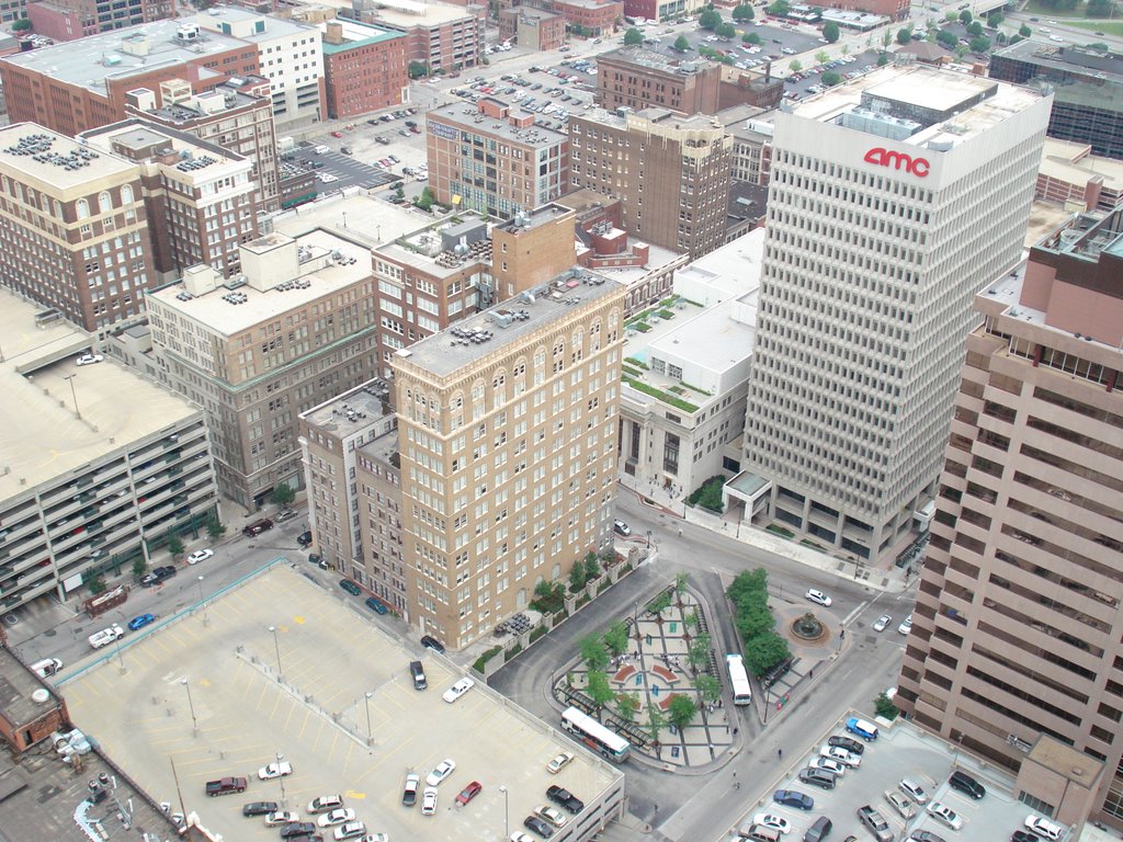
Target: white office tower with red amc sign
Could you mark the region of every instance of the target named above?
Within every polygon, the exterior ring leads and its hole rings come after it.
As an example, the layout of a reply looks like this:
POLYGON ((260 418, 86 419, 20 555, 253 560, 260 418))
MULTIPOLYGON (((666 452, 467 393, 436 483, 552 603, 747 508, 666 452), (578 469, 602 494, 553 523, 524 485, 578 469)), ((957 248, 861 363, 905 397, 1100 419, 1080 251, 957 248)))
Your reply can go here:
POLYGON ((1021 259, 1050 106, 913 65, 776 116, 746 518, 883 566, 926 525, 971 302, 1021 259))

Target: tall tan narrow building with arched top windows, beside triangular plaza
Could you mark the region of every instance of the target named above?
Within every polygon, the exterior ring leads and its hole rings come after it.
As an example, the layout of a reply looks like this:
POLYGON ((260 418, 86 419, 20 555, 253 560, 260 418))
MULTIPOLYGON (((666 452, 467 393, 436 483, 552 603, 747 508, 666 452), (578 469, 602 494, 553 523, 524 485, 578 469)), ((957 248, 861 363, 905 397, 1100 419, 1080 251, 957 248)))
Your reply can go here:
POLYGON ((620 286, 567 272, 399 351, 402 532, 422 633, 463 649, 611 540, 622 306, 620 286))

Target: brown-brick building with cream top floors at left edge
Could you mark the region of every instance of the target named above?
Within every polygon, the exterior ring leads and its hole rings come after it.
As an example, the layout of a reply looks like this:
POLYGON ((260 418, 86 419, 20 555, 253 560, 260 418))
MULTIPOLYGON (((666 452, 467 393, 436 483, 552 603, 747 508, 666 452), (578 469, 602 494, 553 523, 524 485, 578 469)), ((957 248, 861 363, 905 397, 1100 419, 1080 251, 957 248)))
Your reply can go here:
POLYGON ((0 283, 91 332, 154 283, 140 166, 34 123, 0 128, 0 283))

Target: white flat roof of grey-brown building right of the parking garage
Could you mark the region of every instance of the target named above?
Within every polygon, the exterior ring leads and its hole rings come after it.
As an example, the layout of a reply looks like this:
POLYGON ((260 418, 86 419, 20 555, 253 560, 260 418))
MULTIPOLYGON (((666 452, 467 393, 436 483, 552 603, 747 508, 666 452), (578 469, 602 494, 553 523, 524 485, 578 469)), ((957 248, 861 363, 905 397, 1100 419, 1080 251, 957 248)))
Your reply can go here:
MULTIPOLYGON (((276 245, 277 237, 277 232, 265 235, 253 242, 247 242, 246 246, 250 247, 250 250, 261 250, 263 247, 276 245)), ((364 278, 371 277, 371 256, 365 246, 322 229, 309 231, 296 237, 295 240, 300 248, 308 249, 305 263, 321 262, 318 264, 319 268, 299 275, 301 281, 309 282, 307 285, 293 285, 287 289, 274 287, 262 292, 246 284, 237 289, 237 292, 245 295, 245 300, 240 303, 231 303, 223 298, 230 291, 222 284, 206 295, 180 298, 184 285, 182 281, 179 281, 149 292, 148 298, 157 299, 161 303, 177 310, 189 319, 206 324, 216 333, 229 337, 290 310, 296 310, 319 299, 334 295, 364 278), (350 259, 350 262, 335 260, 322 265, 322 258, 335 251, 338 251, 345 260, 350 259)))

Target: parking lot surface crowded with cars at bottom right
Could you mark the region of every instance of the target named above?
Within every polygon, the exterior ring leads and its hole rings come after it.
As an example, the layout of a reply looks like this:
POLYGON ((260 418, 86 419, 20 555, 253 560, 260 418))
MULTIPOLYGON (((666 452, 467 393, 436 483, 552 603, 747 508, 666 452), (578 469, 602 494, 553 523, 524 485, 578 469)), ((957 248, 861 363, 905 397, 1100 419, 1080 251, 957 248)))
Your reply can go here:
MULTIPOLYGON (((846 719, 840 720, 834 729, 821 734, 802 757, 793 758, 788 774, 775 787, 769 787, 759 803, 746 811, 742 825, 750 823, 757 813, 767 812, 791 822, 788 839, 800 840, 807 827, 824 815, 834 824, 830 835, 832 840, 843 840, 847 834, 853 834, 858 839, 873 839, 858 820, 858 809, 871 805, 886 820, 894 834, 893 839, 906 840, 914 831, 929 831, 947 842, 974 842, 1007 840, 1015 830, 1022 827, 1030 814, 1029 807, 996 785, 992 772, 979 770, 973 759, 949 751, 946 743, 907 723, 880 729, 876 741, 865 743, 860 766, 847 769, 833 790, 820 789, 801 781, 800 771, 819 757, 820 748, 827 744, 827 738, 831 734, 846 734, 844 723, 846 719), (962 769, 979 780, 986 788, 986 796, 982 800, 975 800, 952 790, 947 781, 955 769, 962 769), (903 778, 920 784, 929 798, 925 806, 909 802, 916 812, 911 820, 905 820, 891 806, 885 795, 887 791, 901 793, 900 782, 903 778), (775 789, 804 793, 814 799, 814 807, 805 812, 776 804, 773 800, 775 789), (962 820, 962 827, 955 831, 933 818, 925 808, 932 803, 950 807, 962 820)), ((853 738, 853 734, 846 735, 853 738)), ((1005 775, 1002 777, 1005 778, 1005 775)), ((736 830, 733 829, 734 839, 736 830)))

